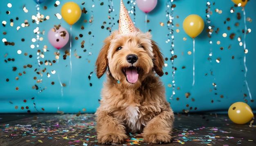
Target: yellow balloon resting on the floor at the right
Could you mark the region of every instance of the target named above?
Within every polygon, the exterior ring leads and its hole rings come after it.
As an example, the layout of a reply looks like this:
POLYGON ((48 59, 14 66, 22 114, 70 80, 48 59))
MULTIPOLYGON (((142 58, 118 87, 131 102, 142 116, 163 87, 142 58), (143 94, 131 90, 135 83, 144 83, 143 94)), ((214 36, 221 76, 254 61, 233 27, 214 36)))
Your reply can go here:
POLYGON ((252 120, 252 108, 244 102, 236 102, 229 107, 229 119, 236 124, 245 124, 252 120))

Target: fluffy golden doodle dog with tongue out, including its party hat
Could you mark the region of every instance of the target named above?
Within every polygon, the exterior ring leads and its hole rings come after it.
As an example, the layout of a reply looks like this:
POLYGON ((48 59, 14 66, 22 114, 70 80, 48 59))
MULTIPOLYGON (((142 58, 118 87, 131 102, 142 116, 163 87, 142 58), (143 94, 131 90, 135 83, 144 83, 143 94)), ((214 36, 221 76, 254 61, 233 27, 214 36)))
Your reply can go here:
POLYGON ((121 8, 119 31, 104 40, 96 60, 97 77, 106 72, 95 113, 98 142, 121 144, 128 133, 141 133, 145 143, 171 142, 174 114, 159 78, 164 74, 162 53, 149 32, 123 26, 127 20, 121 22, 121 15, 127 11, 121 8))

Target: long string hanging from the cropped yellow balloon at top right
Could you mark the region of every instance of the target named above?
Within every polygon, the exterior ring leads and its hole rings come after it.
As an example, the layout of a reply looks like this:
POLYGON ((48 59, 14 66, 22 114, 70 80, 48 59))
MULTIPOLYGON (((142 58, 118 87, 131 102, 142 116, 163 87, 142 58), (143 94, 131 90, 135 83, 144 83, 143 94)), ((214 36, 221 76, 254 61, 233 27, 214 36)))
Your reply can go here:
MULTIPOLYGON (((243 14, 244 14, 244 23, 245 23, 245 32, 244 32, 244 51, 245 51, 246 50, 245 38, 246 38, 246 33, 247 33, 245 8, 243 8, 243 14)), ((246 66, 246 53, 244 53, 244 66, 245 66, 245 84, 246 84, 246 87, 247 87, 247 90, 249 93, 250 100, 252 100, 252 94, 251 94, 251 91, 250 91, 250 88, 248 86, 247 79, 246 79, 247 71, 248 71, 247 66, 246 66)))

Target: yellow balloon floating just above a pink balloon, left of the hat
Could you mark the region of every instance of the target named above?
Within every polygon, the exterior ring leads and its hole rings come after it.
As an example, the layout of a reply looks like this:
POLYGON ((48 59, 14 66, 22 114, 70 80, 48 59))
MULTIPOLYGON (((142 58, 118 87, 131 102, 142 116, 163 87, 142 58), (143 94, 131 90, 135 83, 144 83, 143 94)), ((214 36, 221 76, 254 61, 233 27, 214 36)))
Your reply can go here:
POLYGON ((81 17, 81 8, 75 2, 66 2, 61 7, 61 15, 68 24, 73 25, 81 17))

